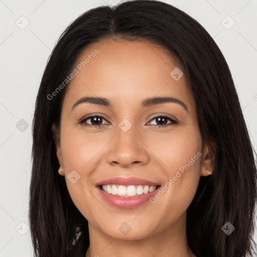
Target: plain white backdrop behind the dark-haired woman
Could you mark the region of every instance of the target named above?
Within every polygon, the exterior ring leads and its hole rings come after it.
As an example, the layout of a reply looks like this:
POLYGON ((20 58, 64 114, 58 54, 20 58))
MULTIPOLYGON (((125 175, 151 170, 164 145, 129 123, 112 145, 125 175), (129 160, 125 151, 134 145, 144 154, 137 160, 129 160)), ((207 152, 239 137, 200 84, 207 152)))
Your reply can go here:
MULTIPOLYGON (((221 49, 256 150, 257 0, 164 2, 196 19, 221 49)), ((33 256, 28 231, 31 126, 46 62, 69 24, 105 3, 118 1, 0 0, 0 257, 33 256)))

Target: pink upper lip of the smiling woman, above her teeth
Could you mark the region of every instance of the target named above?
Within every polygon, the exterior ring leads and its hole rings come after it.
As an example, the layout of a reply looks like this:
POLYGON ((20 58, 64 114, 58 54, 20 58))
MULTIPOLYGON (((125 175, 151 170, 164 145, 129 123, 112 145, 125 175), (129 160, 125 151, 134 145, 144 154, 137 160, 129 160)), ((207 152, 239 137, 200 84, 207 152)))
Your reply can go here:
POLYGON ((137 177, 130 177, 130 178, 124 178, 124 177, 114 177, 110 179, 105 179, 96 184, 96 186, 100 185, 108 185, 108 184, 114 184, 114 185, 149 185, 149 186, 158 186, 157 183, 137 178, 137 177))

